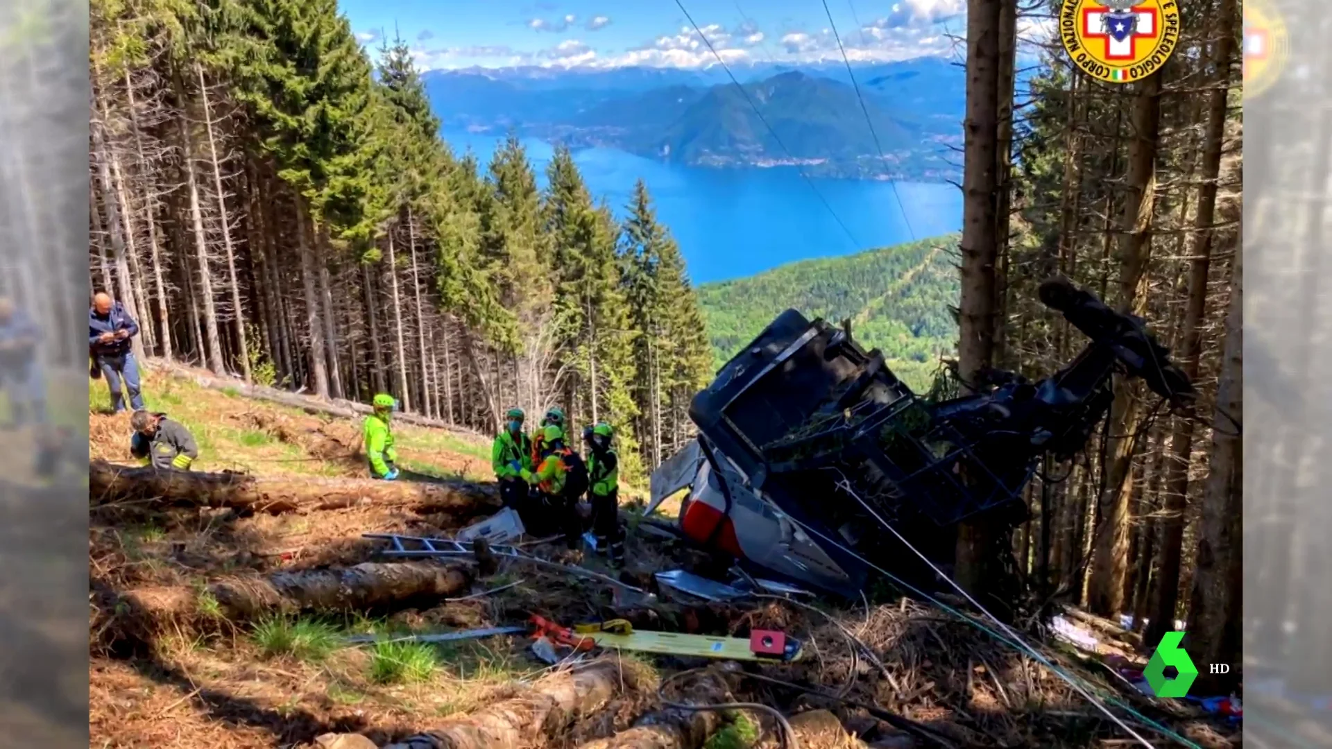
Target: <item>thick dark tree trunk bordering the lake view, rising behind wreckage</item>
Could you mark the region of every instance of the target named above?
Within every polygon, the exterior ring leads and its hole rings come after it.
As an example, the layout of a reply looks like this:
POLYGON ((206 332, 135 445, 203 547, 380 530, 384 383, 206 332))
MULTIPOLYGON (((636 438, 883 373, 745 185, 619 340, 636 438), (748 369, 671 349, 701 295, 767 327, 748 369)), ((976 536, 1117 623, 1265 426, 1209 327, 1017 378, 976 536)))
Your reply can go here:
MULTIPOLYGON (((967 1, 967 119, 963 123, 962 295, 959 301, 958 363, 963 388, 994 363, 998 299, 995 264, 996 135, 999 116, 999 60, 1002 0, 967 1)), ((956 581, 979 594, 994 576, 991 554, 995 532, 984 522, 958 528, 956 581)))

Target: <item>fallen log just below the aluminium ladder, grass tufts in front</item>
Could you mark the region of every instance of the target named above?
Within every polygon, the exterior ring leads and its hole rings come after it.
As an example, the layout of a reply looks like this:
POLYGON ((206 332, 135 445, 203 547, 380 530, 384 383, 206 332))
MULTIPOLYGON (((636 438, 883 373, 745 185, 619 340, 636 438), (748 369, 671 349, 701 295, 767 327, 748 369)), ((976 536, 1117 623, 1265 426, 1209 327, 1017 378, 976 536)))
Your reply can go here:
MULTIPOLYGON (((309 569, 216 580, 201 590, 148 586, 119 594, 139 636, 194 626, 204 620, 230 621, 297 612, 389 609, 456 596, 472 577, 462 565, 436 562, 364 562, 345 569, 309 569)), ((117 605, 119 608, 119 605, 117 605)))

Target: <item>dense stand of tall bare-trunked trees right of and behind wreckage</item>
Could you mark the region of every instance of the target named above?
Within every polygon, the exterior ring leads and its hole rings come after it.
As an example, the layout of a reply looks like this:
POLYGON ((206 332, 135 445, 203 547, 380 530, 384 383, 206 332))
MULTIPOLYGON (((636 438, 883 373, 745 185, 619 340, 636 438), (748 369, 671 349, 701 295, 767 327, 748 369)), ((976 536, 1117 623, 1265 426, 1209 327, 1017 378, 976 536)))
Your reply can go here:
MULTIPOLYGON (((1131 613, 1144 652, 1184 618, 1195 662, 1239 664, 1241 8, 1179 5, 1179 45, 1142 80, 1083 75, 1054 36, 1028 89, 1015 85, 1014 5, 967 4, 962 380, 987 368, 1040 376, 1078 355, 1086 337, 1036 297, 1058 273, 1143 317, 1199 398, 1169 413, 1116 378, 1084 456, 1047 462, 1028 485, 1034 520, 1016 537, 964 524, 955 561, 959 582, 984 594, 1016 550, 1042 597, 1131 613)), ((1281 554, 1255 564, 1284 569, 1281 554)), ((1325 646, 1315 642, 1325 633, 1303 646, 1325 646)), ((1224 694, 1237 680, 1203 673, 1193 692, 1224 694)))

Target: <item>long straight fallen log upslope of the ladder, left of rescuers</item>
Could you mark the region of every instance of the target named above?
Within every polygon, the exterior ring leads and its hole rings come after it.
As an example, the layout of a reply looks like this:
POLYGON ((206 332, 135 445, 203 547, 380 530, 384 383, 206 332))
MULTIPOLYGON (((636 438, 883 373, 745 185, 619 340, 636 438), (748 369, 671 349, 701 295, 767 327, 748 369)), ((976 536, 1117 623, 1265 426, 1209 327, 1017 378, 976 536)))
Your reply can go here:
POLYGON ((229 506, 273 514, 361 504, 458 514, 480 514, 500 508, 500 493, 494 485, 469 481, 422 482, 201 473, 151 466, 133 468, 101 460, 88 465, 88 496, 93 505, 125 500, 159 500, 165 504, 229 506))

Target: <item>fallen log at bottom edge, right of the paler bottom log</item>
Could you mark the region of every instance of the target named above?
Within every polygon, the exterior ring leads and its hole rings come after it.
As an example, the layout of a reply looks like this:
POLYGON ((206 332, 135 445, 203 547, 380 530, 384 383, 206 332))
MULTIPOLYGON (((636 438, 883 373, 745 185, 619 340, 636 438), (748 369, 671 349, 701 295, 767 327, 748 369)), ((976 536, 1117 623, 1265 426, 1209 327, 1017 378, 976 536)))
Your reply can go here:
MULTIPOLYGON (((719 705, 730 702, 726 682, 714 673, 705 673, 690 681, 681 697, 671 700, 685 705, 719 705)), ((663 708, 646 713, 633 728, 609 738, 598 738, 579 749, 702 749, 725 717, 719 710, 681 710, 663 708)))

